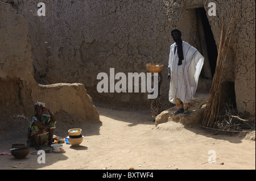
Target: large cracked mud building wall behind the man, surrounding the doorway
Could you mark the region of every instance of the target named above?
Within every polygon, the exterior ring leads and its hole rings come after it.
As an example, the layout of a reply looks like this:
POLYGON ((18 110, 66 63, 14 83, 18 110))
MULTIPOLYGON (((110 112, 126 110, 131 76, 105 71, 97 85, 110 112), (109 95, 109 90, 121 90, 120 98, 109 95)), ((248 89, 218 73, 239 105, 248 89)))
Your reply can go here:
MULTIPOLYGON (((216 44, 221 20, 225 30, 236 16, 224 82, 234 83, 238 111, 255 116, 255 1, 53 1, 47 0, 46 16, 36 16, 37 3, 22 1, 16 10, 29 23, 34 76, 40 83, 82 83, 93 100, 116 107, 150 108, 143 93, 99 94, 97 74, 147 72, 146 64, 162 63, 162 96, 166 108, 169 82, 168 55, 171 30, 179 28, 183 40, 201 49, 195 8, 216 3, 216 16, 208 20, 216 44), (31 15, 32 14, 32 15, 31 15), (36 17, 36 18, 35 18, 36 17)), ((224 30, 224 31, 225 31, 224 30)), ((198 91, 209 90, 200 79, 198 91)))

